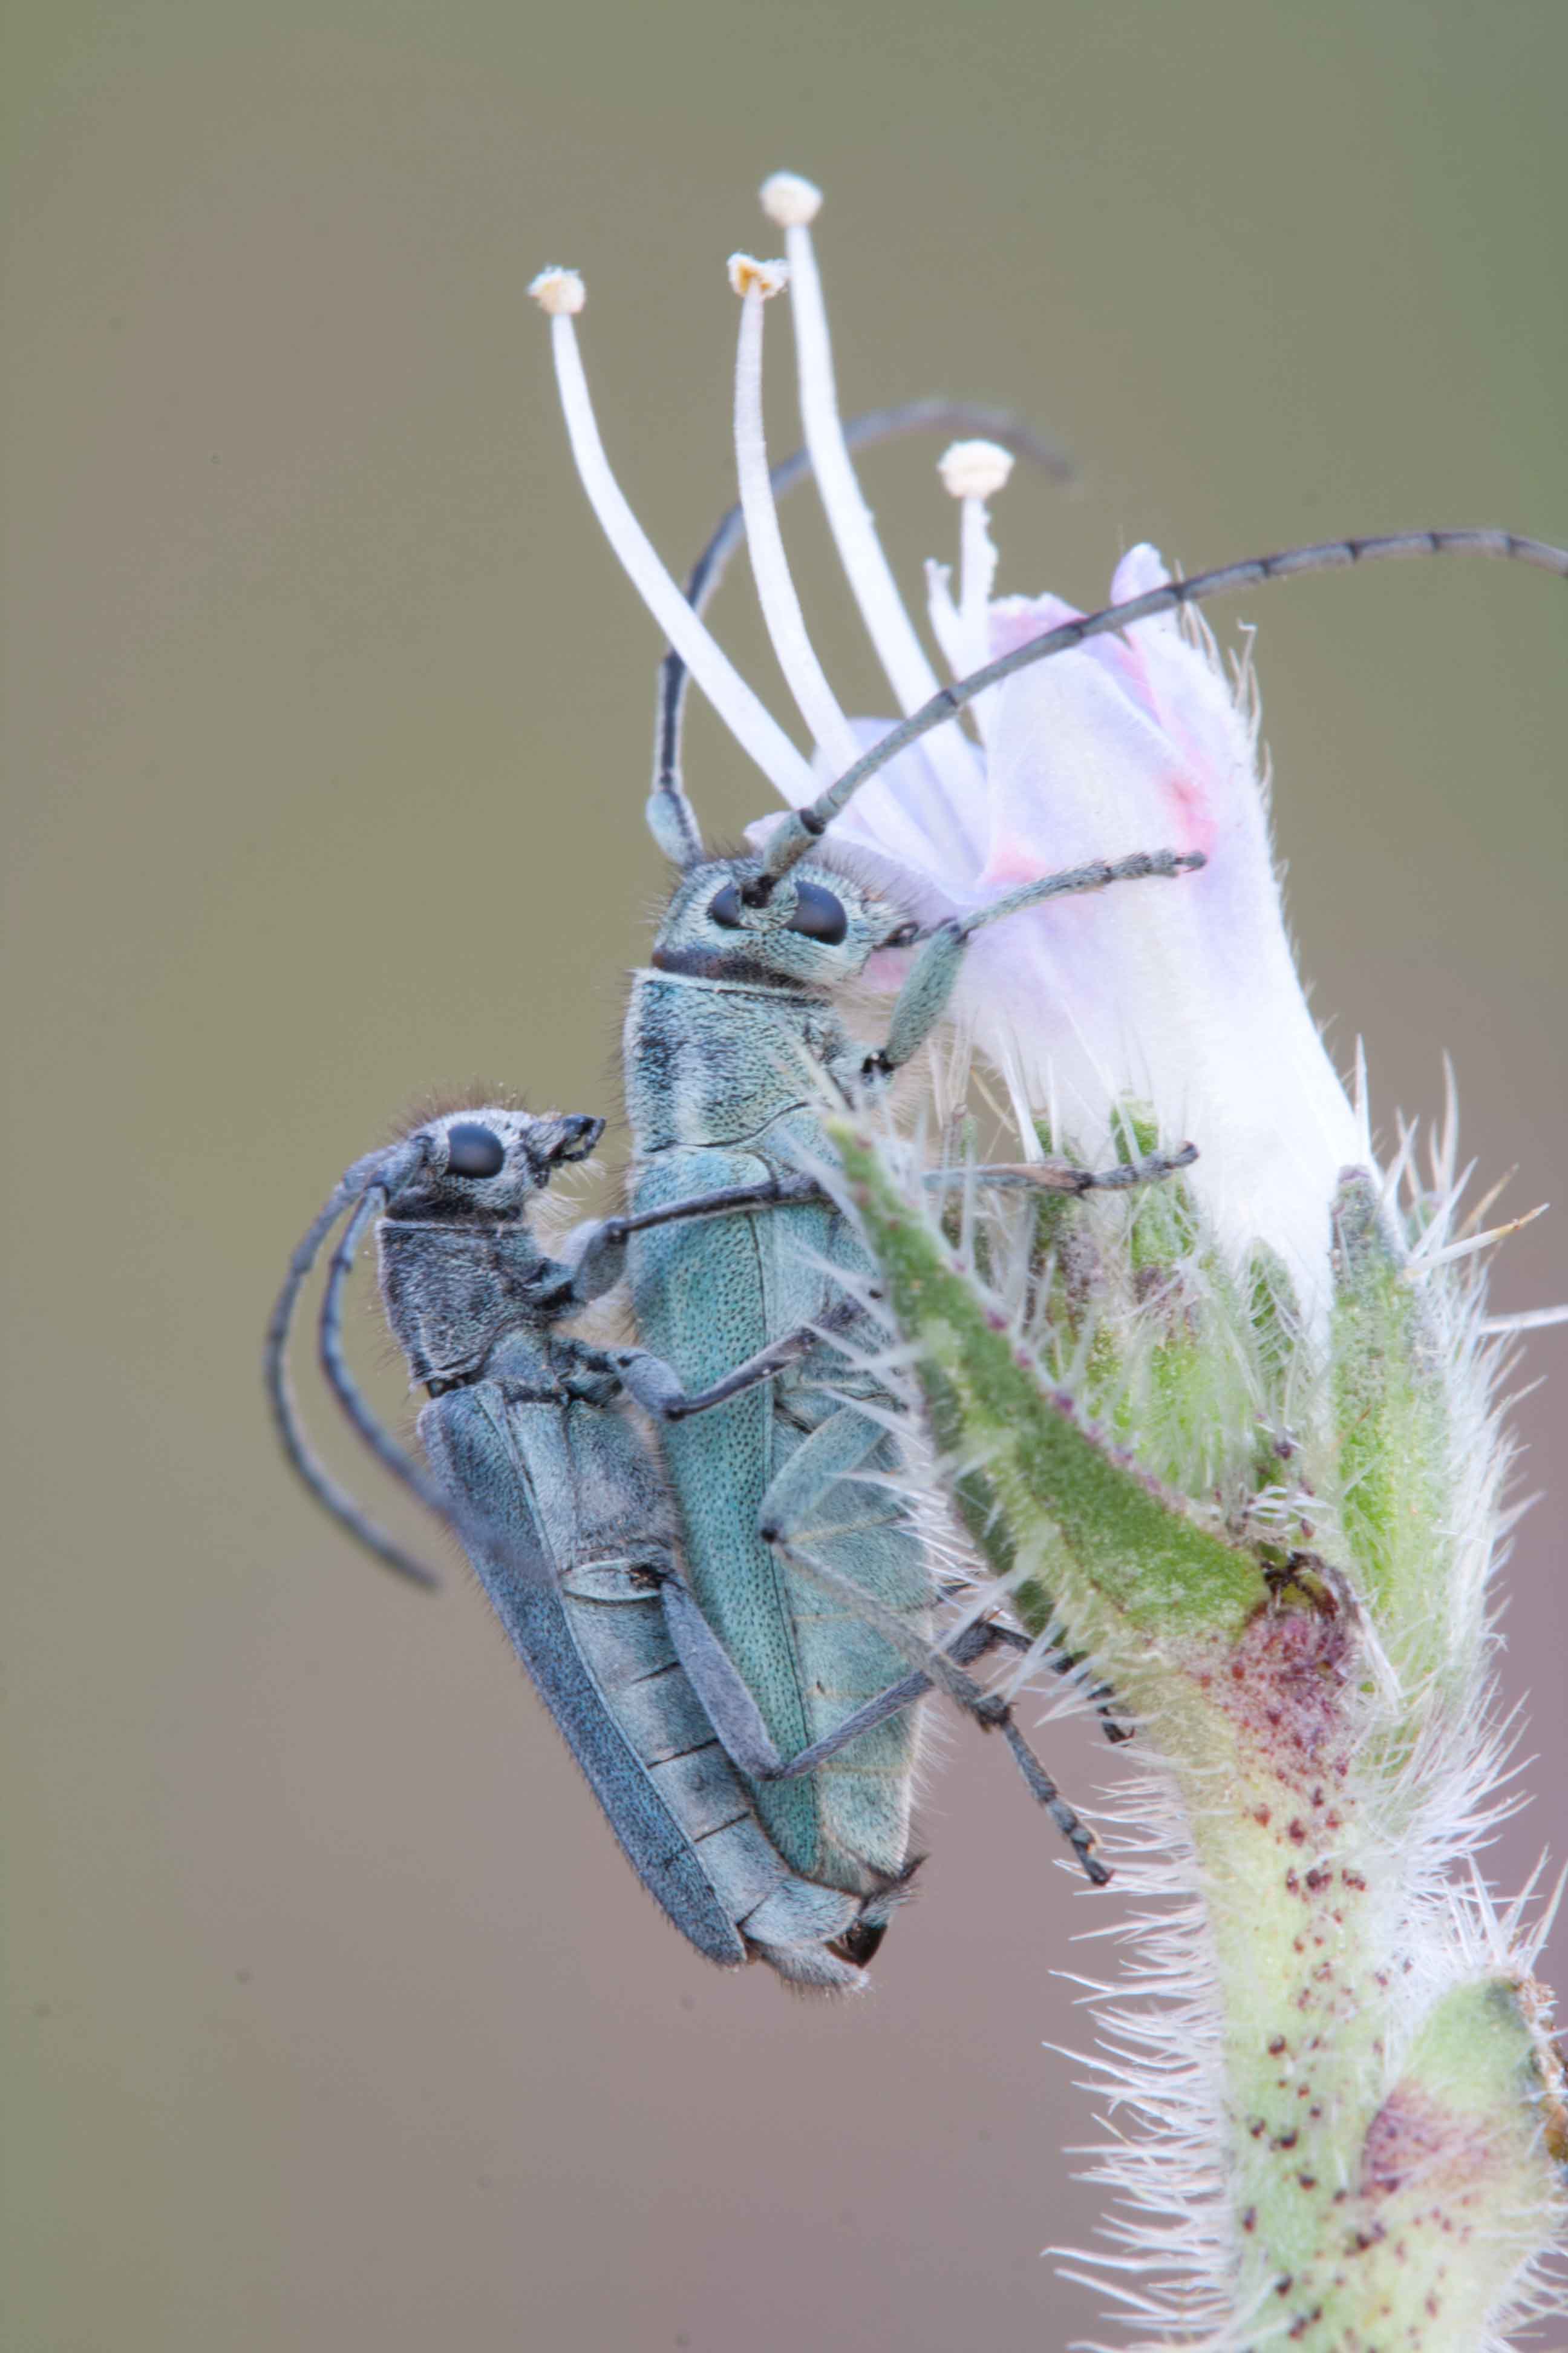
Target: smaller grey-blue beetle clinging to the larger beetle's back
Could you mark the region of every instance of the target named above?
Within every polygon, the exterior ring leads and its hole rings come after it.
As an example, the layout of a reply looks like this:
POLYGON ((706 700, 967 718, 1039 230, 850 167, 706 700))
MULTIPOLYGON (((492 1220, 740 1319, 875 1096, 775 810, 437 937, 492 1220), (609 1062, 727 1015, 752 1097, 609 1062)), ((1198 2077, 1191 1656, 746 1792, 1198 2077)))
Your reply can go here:
MULTIPOLYGON (((846 1318, 827 1313, 816 1329, 785 1334, 703 1393, 686 1393, 672 1367, 642 1348, 604 1351, 567 1337, 562 1322, 618 1280, 628 1238, 693 1214, 726 1214, 710 1193, 585 1224, 550 1259, 531 1233, 529 1207, 562 1162, 592 1151, 599 1132, 595 1118, 482 1106, 433 1120, 355 1162, 294 1254, 273 1318, 268 1372, 280 1428, 315 1494, 393 1567, 428 1579, 324 1473, 287 1388, 299 1292, 331 1226, 346 1217, 322 1297, 327 1379, 378 1457, 461 1537, 628 1861, 710 1960, 762 1958, 795 1984, 853 1986, 910 1866, 884 1871, 860 1854, 858 1887, 839 1885, 842 1859, 837 1880, 827 1875, 832 1864, 797 1868, 785 1838, 759 1819, 762 1800, 811 1791, 839 1760, 863 1758, 907 1722, 931 1678, 922 1668, 903 1673, 867 1704, 839 1708, 823 1737, 780 1755, 686 1584, 668 1485, 623 1412, 630 1398, 665 1433, 686 1424, 701 1431, 731 1400, 762 1395, 806 1362, 846 1318), (409 1372, 430 1398, 418 1438, 435 1475, 383 1431, 341 1351, 343 1287, 378 1212, 386 1212, 376 1226, 381 1294, 409 1372)), ((813 1191, 809 1179, 757 1184, 731 1195, 729 1214, 743 1207, 762 1217, 769 1205, 788 1214, 790 1202, 813 1191)), ((924 1586, 914 1591, 924 1607, 924 1586)), ((851 1617, 849 1631, 839 1626, 837 1640, 816 1633, 820 1668, 832 1673, 835 1659, 849 1661, 839 1678, 856 1673, 853 1624, 851 1617)), ((966 1694, 964 1666, 994 1642, 1025 1647, 987 1619, 929 1664, 966 1694)), ((1056 1807, 1088 1859, 1077 1819, 1060 1807, 1006 1711, 980 1706, 1004 1722, 1037 1795, 1056 1807)), ((886 1762, 879 1769, 886 1777, 886 1762)))

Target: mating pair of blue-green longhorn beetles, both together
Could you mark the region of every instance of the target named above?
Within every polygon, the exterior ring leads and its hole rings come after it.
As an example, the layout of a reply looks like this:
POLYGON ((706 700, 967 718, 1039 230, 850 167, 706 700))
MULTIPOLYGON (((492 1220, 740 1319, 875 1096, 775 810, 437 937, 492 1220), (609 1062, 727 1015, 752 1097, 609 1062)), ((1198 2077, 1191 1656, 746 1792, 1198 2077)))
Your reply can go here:
MULTIPOLYGON (((926 402, 851 431, 973 421, 926 402)), ((778 468, 778 487, 802 473, 778 468)), ((693 605, 729 541, 726 518, 693 605)), ((576 1228, 550 1259, 529 1207, 559 1162, 592 1151, 602 1122, 494 1106, 433 1120, 336 1186, 277 1301, 268 1384, 315 1494, 428 1581, 315 1459, 287 1386, 299 1292, 346 1217, 322 1299, 327 1379, 381 1461, 461 1537, 635 1871, 708 1958, 853 1986, 914 1868, 914 1701, 933 1680, 1001 1725, 1088 1878, 1107 1873, 1011 1711, 964 1673, 997 1645, 1027 1649, 1025 1638, 985 1617, 931 1645, 933 1574, 898 1492, 893 1402, 870 1362, 886 1339, 865 1304, 872 1268, 820 1186, 832 1167, 823 1111, 882 1094, 910 1061, 966 932, 924 939, 830 854, 778 880, 764 859, 705 859, 679 788, 682 696, 684 668, 668 656, 649 814, 684 873, 628 1012, 632 1214, 576 1228), (922 953, 884 1042, 865 1049, 835 995, 896 946, 922 953), (376 1421, 341 1351, 343 1289, 378 1212, 383 1306, 430 1395, 418 1419, 430 1471, 376 1421), (562 1327, 628 1259, 649 1348, 569 1337, 562 1327), (658 1449, 628 1402, 656 1421, 658 1449)), ((1128 859, 1020 896, 1190 864, 1128 859)), ((1168 1165, 1030 1174, 1079 1191, 1168 1165)))

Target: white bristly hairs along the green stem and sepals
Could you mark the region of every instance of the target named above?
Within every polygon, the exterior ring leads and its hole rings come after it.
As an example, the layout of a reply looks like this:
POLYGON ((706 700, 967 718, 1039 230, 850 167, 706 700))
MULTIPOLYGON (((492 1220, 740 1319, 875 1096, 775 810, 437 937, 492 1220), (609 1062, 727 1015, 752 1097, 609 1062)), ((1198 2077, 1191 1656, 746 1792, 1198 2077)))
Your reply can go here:
MULTIPOLYGON (((1359 1075, 1363 1104, 1363 1068, 1359 1075)), ((964 1101, 961 1068, 950 1061, 940 1080, 943 1101, 957 1111, 964 1101)), ((1034 1144, 1030 1129, 1025 1141, 1034 1144)), ((931 1198, 919 1186, 919 1172, 931 1158, 929 1146, 929 1136, 898 1136, 891 1125, 879 1141, 884 1167, 905 1172, 912 1209, 922 1202, 922 1214, 931 1214, 931 1198)), ((1448 1459, 1458 1487, 1446 1525, 1446 1562, 1441 1574, 1434 1574, 1434 1591, 1446 1598, 1436 1664, 1415 1671, 1410 1680, 1410 1671, 1401 1671, 1399 1659, 1380 1657, 1375 1645, 1368 1657, 1378 1692, 1375 1715, 1382 1718, 1392 1706, 1399 1715, 1389 1715, 1389 1722, 1403 1718, 1422 1725, 1413 1744, 1394 1744, 1392 1765, 1380 1760, 1373 1739, 1354 1769, 1354 1802, 1373 1875, 1368 1901, 1378 1904, 1378 1915, 1385 1920, 1385 1965, 1396 1988, 1387 2047, 1373 2061, 1378 2080, 1368 2082, 1375 2101, 1401 2080, 1413 2040, 1441 1995, 1490 1974, 1530 1979, 1561 1897, 1561 1882, 1556 1892, 1542 1889, 1537 1873, 1512 1904, 1497 1904, 1479 1868, 1497 1826, 1523 1802, 1512 1788, 1519 1718, 1500 1711, 1493 1675, 1493 1581, 1528 1504, 1505 1501, 1514 1447, 1502 1426, 1512 1400, 1502 1391, 1516 1362, 1514 1320, 1502 1334, 1495 1332, 1495 1320, 1486 1313, 1486 1259, 1481 1252, 1455 1247, 1467 1240, 1490 1242, 1512 1228, 1469 1235, 1469 1226, 1490 1207, 1488 1195, 1469 1214, 1465 1212, 1469 1174, 1472 1169, 1460 1162, 1450 1073, 1448 1111, 1436 1132, 1425 1139, 1415 1125, 1401 1122, 1401 1148, 1392 1160, 1385 1195, 1406 1249, 1415 1264, 1427 1266, 1420 1297, 1441 1365, 1450 1419, 1448 1459), (1422 1704, 1422 1687, 1432 1706, 1422 1704)), ((1128 1214, 1128 1195, 1093 1198, 1105 1202, 1103 1214, 1110 1221, 1128 1214)), ((844 1207, 853 1214, 849 1200, 844 1207)), ((954 1266, 964 1268, 985 1306, 1006 1325, 1013 1348, 1037 1355, 1048 1388, 1079 1393, 1093 1332, 1086 1329, 1072 1346, 1056 1346, 1041 1325, 1039 1306, 1030 1297, 1041 1282, 1039 1273, 1030 1278, 1027 1268, 1032 1249, 1027 1198, 1018 1193, 983 1198, 969 1186, 959 1195, 957 1231, 952 1224, 945 1231, 954 1266), (983 1247, 978 1247, 980 1231, 985 1231, 983 1247)), ((1199 1261, 1211 1252, 1213 1238, 1197 1231, 1192 1259, 1180 1268, 1182 1280, 1190 1275, 1201 1280, 1199 1261)), ((1225 1299, 1206 1289, 1204 1313, 1225 1315, 1225 1299)), ((1246 1318, 1225 1334, 1225 1344, 1251 1362, 1255 1334, 1246 1318)), ((1131 1355, 1140 1346, 1121 1320, 1117 1346, 1131 1355)), ((1154 1322, 1147 1346, 1157 1346, 1154 1322)), ((919 1421, 912 1351, 889 1339, 886 1353, 875 1360, 875 1377, 900 1395, 905 1412, 919 1421)), ((1135 1393, 1133 1365, 1124 1398, 1131 1400, 1135 1393)), ((1274 1405, 1262 1391, 1260 1374, 1253 1405, 1258 1421, 1269 1426, 1274 1405)), ((1312 1398, 1302 1395, 1300 1405, 1309 1412, 1312 1398)), ((1103 1421, 1110 1419, 1103 1398, 1095 1409, 1103 1421)), ((1138 1431, 1121 1435, 1138 1459, 1138 1431)), ((1305 1440, 1302 1454, 1309 1461, 1312 1440, 1305 1440)), ((983 1471, 985 1461, 978 1454, 961 1464, 926 1464, 914 1478, 929 1478, 931 1468, 952 1492, 961 1471, 983 1471)), ((1234 1468, 1220 1449, 1215 1459, 1194 1466, 1182 1487, 1190 1497, 1211 1494, 1234 1468)), ((1316 1475, 1312 1494, 1281 1485, 1272 1508, 1281 1527, 1293 1511, 1309 1508, 1324 1551, 1333 1558, 1338 1529, 1326 1487, 1328 1480, 1316 1485, 1316 1475)), ((1185 1508, 1218 1532, 1220 1518, 1213 1504, 1185 1508)), ((966 1593, 959 1602, 964 1617, 980 1614, 987 1602, 1006 1607, 1006 1588, 992 1584, 969 1558, 964 1577, 966 1593)), ((1060 1631, 1037 1645, 1023 1673, 999 1685, 1009 1694, 1018 1694, 1020 1687, 1041 1692, 1053 1701, 1046 1704, 1044 1720, 1091 1704, 1095 1682, 1093 1661, 1079 1668, 1065 1692, 1056 1675, 1041 1673, 1056 1645, 1060 1631)), ((1107 2318, 1124 2332, 1114 2339, 1121 2353, 1128 2353, 1128 2337, 1133 2353, 1171 2353, 1173 2346, 1190 2346, 1197 2353, 1255 2353, 1272 2334, 1274 2313, 1267 2289, 1248 2311, 1237 2308, 1237 2219, 1225 2172, 1229 2134, 1225 2007, 1206 1915, 1206 1880, 1192 1838, 1192 1767, 1182 1767, 1187 1774, 1182 1791, 1175 1767, 1161 1758, 1159 1718, 1138 1725, 1135 1758, 1138 1769, 1117 1777, 1093 1812, 1103 1854, 1114 1871, 1112 1897, 1119 1899, 1119 1915, 1088 1932, 1086 1941, 1112 1944, 1119 1972, 1067 1974, 1095 2019, 1093 2047, 1063 2057, 1086 2071, 1084 2087, 1103 2104, 1107 2137, 1086 2151, 1091 2162, 1084 2179, 1107 2193, 1107 2219, 1093 2247, 1051 2252, 1060 2261, 1063 2278, 1105 2294, 1107 2318)), ((1211 1800, 1197 1798, 1204 1812, 1213 1807, 1218 1814, 1225 1814, 1227 1802, 1232 1800, 1222 1777, 1215 1779, 1211 1800)), ((1521 2264, 1507 2308, 1495 2315, 1476 2353, 1505 2353, 1514 2329, 1566 2308, 1563 2282, 1552 2266, 1523 2257, 1521 2264)), ((1112 2353, 1112 2344, 1091 2341, 1081 2353, 1112 2353)))

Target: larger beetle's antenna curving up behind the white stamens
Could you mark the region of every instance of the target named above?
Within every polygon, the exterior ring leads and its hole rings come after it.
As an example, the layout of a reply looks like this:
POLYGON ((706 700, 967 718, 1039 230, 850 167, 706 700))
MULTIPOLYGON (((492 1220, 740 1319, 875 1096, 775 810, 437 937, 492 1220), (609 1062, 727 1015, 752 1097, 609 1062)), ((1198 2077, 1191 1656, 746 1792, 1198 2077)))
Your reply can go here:
MULTIPOLYGON (((905 400, 891 409, 865 409, 860 416, 851 416, 844 426, 844 440, 851 449, 870 449, 877 442, 903 440, 910 433, 950 433, 969 440, 994 440, 1016 456, 1030 459, 1030 464, 1039 466, 1041 473, 1048 473, 1058 482, 1070 482, 1077 473, 1077 466, 1058 442, 1034 433, 1034 428, 1020 416, 1013 416, 1011 409, 990 409, 976 400, 905 400)), ((809 480, 811 456, 806 449, 797 449, 795 456, 783 459, 769 473, 773 499, 788 496, 788 492, 809 480)), ((708 612, 708 605, 729 567, 729 558, 743 539, 745 515, 736 501, 736 506, 722 515, 719 527, 693 562, 686 579, 686 602, 696 614, 708 612)), ((675 859, 677 866, 696 866, 703 856, 703 833, 682 784, 682 732, 686 722, 689 685, 691 673, 675 647, 670 647, 665 659, 658 664, 658 701, 654 711, 654 786, 649 793, 649 814, 661 847, 670 859, 675 859)))

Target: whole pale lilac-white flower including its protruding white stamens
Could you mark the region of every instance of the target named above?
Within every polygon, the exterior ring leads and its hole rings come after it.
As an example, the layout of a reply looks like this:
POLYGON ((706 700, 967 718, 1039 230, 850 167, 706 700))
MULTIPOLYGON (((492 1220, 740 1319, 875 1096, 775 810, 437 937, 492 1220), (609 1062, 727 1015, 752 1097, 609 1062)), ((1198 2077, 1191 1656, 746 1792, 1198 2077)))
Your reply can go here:
MULTIPOLYGON (((790 744, 684 602, 621 496, 599 447, 571 313, 581 280, 545 273, 557 372, 583 482, 628 572, 691 675, 780 798, 802 807, 877 741, 889 720, 842 711, 790 579, 762 438, 762 311, 788 282, 806 447, 839 558, 898 708, 938 689, 936 671, 860 496, 839 424, 827 318, 811 245, 820 198, 790 174, 764 191, 785 231, 788 266, 731 259, 743 299, 736 365, 736 459, 748 548, 773 647, 813 739, 790 744)), ((1072 616, 1058 598, 992 598, 997 555, 987 499, 1006 452, 959 442, 943 480, 961 504, 957 598, 929 567, 929 616, 952 675, 966 675, 1072 616)), ((1112 600, 1166 579, 1133 548, 1112 600)), ((1307 1012, 1272 866, 1255 713, 1225 678, 1208 633, 1173 614, 1100 635, 1034 664, 973 704, 980 741, 959 722, 893 758, 835 821, 926 920, 971 913, 1020 882, 1093 859, 1201 849, 1197 875, 1121 885, 1011 915, 976 934, 954 1014, 1009 1071, 1027 1106, 1081 1151, 1103 1153, 1112 1108, 1154 1108, 1166 1141, 1192 1139, 1192 1181, 1218 1240, 1241 1259, 1255 1242, 1291 1271, 1312 1322, 1328 1304, 1328 1202, 1366 1134, 1307 1012)), ((771 831, 764 821, 752 838, 771 831)))

